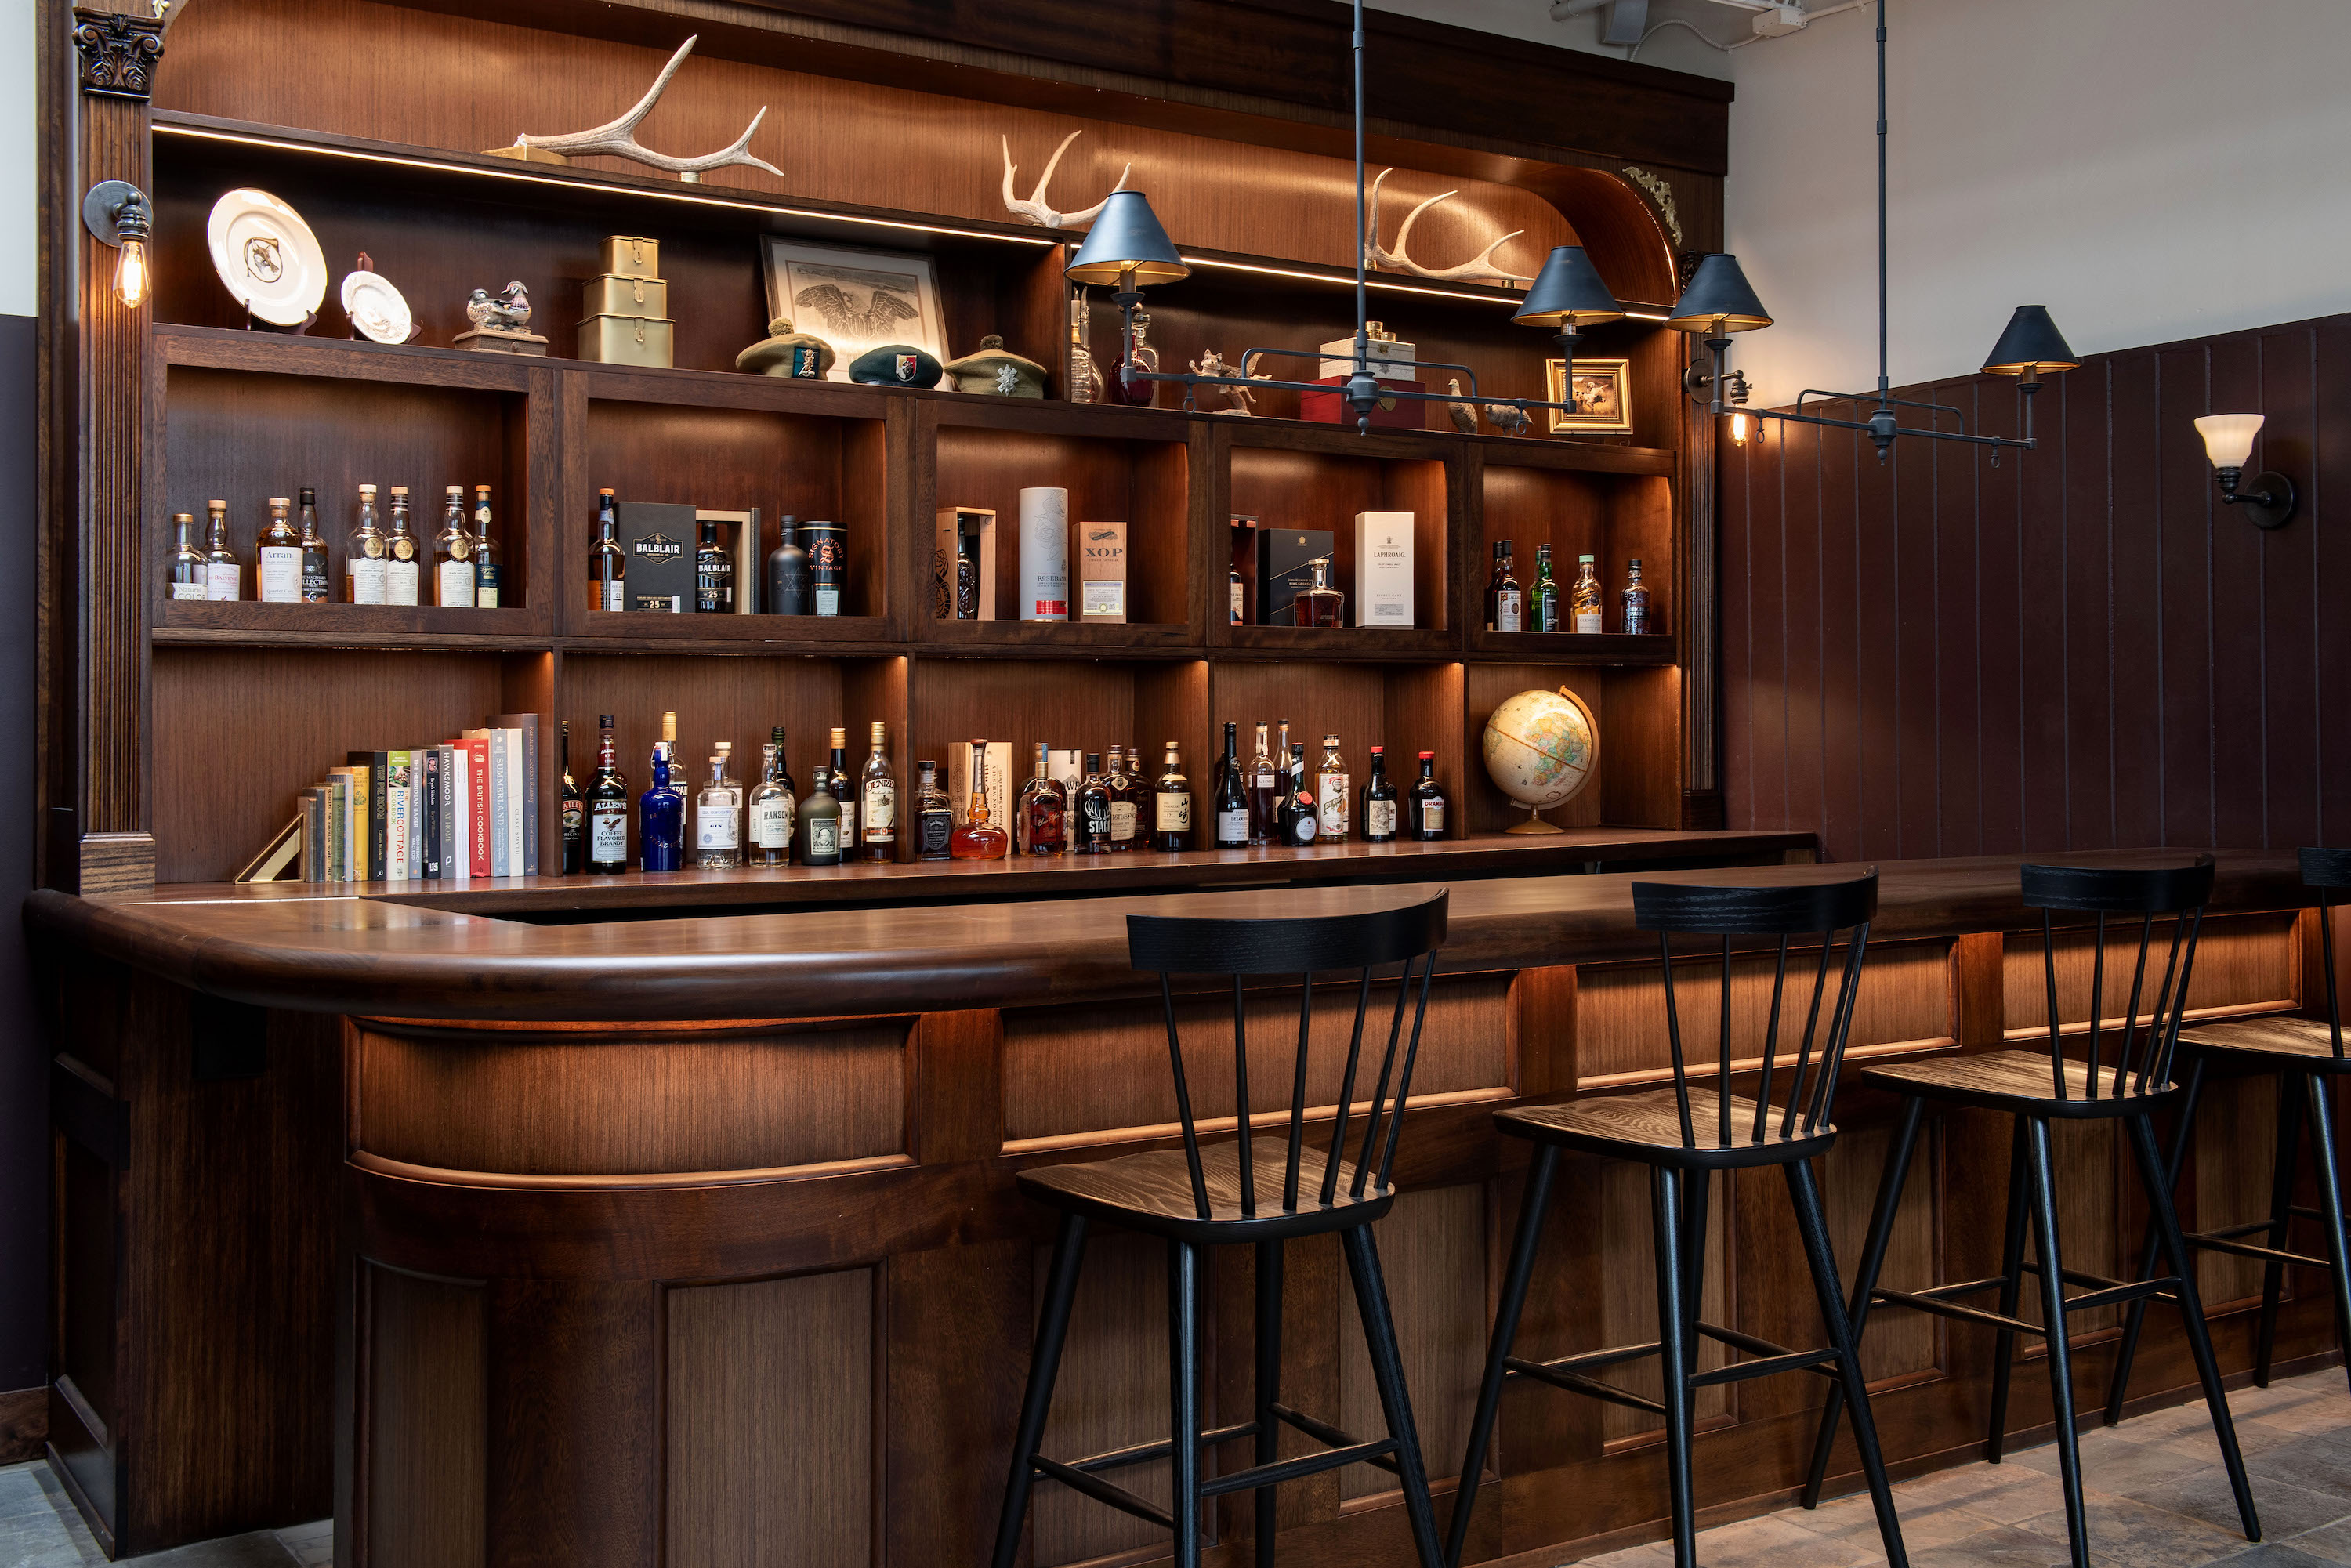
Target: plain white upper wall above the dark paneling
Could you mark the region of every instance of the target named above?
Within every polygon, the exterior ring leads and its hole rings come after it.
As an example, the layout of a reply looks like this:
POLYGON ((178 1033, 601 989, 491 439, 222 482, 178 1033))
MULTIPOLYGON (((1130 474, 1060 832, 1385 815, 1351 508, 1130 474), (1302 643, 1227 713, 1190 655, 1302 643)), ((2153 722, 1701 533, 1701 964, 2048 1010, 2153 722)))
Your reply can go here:
MULTIPOLYGON (((1871 16, 1733 56, 1766 407, 1876 383, 1871 16)), ((2351 0, 1890 0, 1888 40, 1895 386, 2022 303, 2076 353, 2351 310, 2351 0)))

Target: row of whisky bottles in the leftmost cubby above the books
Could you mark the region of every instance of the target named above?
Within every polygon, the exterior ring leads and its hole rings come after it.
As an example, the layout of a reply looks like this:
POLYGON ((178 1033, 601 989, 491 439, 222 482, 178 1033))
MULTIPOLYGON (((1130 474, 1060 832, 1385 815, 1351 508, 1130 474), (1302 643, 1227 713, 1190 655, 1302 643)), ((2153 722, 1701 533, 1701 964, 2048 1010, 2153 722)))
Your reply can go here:
MULTIPOLYGON (((336 592, 327 538, 317 531, 317 491, 296 503, 270 496, 270 520, 254 548, 254 597, 263 604, 440 604, 442 609, 498 609, 498 548, 489 536, 489 487, 473 487, 468 527, 465 487, 451 484, 442 498, 442 527, 430 548, 409 524, 409 487, 390 494, 390 527, 381 527, 376 487, 360 487, 360 522, 343 545, 343 583, 336 592), (430 564, 433 576, 426 578, 430 564), (430 597, 426 583, 430 583, 430 597)), ((172 512, 174 599, 242 599, 245 562, 228 543, 228 503, 207 501, 205 548, 195 548, 195 515, 172 512)))

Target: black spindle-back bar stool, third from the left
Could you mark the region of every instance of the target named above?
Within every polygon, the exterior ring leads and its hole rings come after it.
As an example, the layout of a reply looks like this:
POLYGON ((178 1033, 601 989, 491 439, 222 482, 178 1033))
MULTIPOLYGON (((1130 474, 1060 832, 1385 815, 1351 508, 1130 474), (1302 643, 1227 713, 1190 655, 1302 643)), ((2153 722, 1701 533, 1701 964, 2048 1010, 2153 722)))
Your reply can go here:
MULTIPOLYGON (((2196 1276, 2189 1269, 2186 1246, 2179 1237, 2179 1215, 2172 1211, 2172 1194, 2163 1178, 2163 1159, 2156 1152, 2154 1131, 2154 1112, 2163 1110, 2177 1093, 2170 1084, 2172 1048, 2179 1041, 2189 976, 2196 969, 2196 933, 2203 929, 2203 907, 2210 896, 2212 856, 2198 856, 2193 865, 2158 870, 2027 865, 2024 907, 2041 910, 2048 1053, 1987 1051, 1980 1056, 1947 1056, 1925 1063, 1871 1067, 1862 1074, 1871 1086, 1902 1095, 1902 1119, 1895 1128, 1895 1143, 1886 1154, 1886 1175, 1878 1180, 1878 1201, 1869 1218, 1869 1241, 1862 1246, 1862 1267, 1853 1281, 1853 1333, 1860 1335, 1869 1326, 1869 1309, 1876 1305, 1914 1307, 1963 1324, 1996 1328, 1998 1352, 1991 1371, 1989 1434, 1989 1458, 1994 1462, 2001 1460, 2008 1427, 2008 1375, 2017 1335, 2036 1333, 2048 1340, 2050 1399, 2057 1415, 2057 1479, 2064 1483, 2074 1568, 2090 1566, 2090 1535, 2081 1507, 2081 1448, 2074 1434, 2074 1356, 2071 1338, 2067 1335, 2067 1314, 2088 1312, 2090 1307, 2144 1302, 2149 1295, 2170 1295, 2179 1302, 2189 1347, 2196 1354, 2196 1373, 2203 1378, 2205 1403, 2212 1410, 2212 1432, 2219 1436, 2222 1462, 2229 1469, 2229 1488, 2236 1493, 2236 1512, 2245 1523, 2245 1540, 2262 1540, 2262 1526, 2252 1509, 2252 1488, 2245 1481, 2245 1460, 2236 1448, 2236 1425, 2229 1420, 2229 1396, 2219 1387, 2212 1335, 2205 1331, 2203 1307, 2196 1300, 2196 1276), (2067 1060, 2064 1032, 2057 1025, 2057 938, 2050 922, 2052 910, 2097 914, 2097 952, 2090 961, 2088 1053, 2081 1063, 2067 1060), (2121 1046, 2102 1079, 2106 922, 2111 914, 2139 917, 2139 957, 2130 973, 2130 1004, 2123 1013, 2121 1046), (2149 1009, 2146 1027, 2142 1030, 2139 999, 2146 985, 2146 954, 2158 917, 2170 917, 2170 957, 2163 964, 2163 983, 2156 987, 2154 1009, 2149 1009), (1902 1182, 1918 1147, 1918 1121, 1925 1114, 1928 1100, 1972 1105, 2015 1117, 2015 1138, 2008 1154, 2008 1239, 2001 1253, 2001 1272, 1991 1279, 1968 1279, 1928 1291, 1881 1291, 1878 1269, 1886 1265, 1886 1244, 1893 1237, 1895 1211, 1902 1206, 1902 1182), (2132 1161, 2139 1168, 2139 1185, 2146 1190, 2146 1204, 2154 1213, 2156 1241, 2163 1255, 2170 1258, 2172 1274, 2125 1284, 2064 1267, 2057 1241, 2057 1173, 2050 1159, 2050 1121, 2055 1119, 2114 1119, 2123 1124, 2132 1161), (2038 1262, 2024 1260, 2027 1218, 2038 1237, 2038 1262), (2027 1324, 2017 1316, 2024 1274, 2041 1276, 2041 1324, 2027 1324), (2069 1300, 2064 1293, 2069 1284, 2083 1286, 2083 1293, 2069 1300), (1998 1312, 1968 1307, 1958 1300, 1991 1288, 2001 1291, 1998 1312)), ((2128 931, 2128 924, 2123 929, 2128 931)), ((1829 1474, 1829 1448, 1836 1441, 1836 1418, 1838 1389, 1829 1389, 1829 1408, 1822 1410, 1820 1434, 1813 1443, 1813 1474, 1803 1488, 1806 1507, 1820 1502, 1820 1486, 1829 1474)))

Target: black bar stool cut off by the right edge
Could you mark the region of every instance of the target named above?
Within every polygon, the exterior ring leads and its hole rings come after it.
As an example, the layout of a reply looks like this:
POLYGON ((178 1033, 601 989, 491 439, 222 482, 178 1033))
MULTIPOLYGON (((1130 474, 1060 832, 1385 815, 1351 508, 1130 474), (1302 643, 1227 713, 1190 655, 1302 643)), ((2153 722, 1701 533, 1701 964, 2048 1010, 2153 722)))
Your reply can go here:
MULTIPOLYGON (((2196 1098, 2203 1093, 2208 1065, 2278 1074, 2278 1161, 2269 1187, 2269 1218, 2182 1237, 2193 1248, 2259 1258, 2266 1265, 2262 1269, 2262 1328, 2252 1361, 2252 1380, 2264 1389, 2269 1387, 2271 1352, 2278 1345, 2278 1293, 2285 1286, 2288 1262, 2332 1274, 2335 1342, 2351 1349, 2351 1267, 2344 1265, 2344 1192, 2335 1166, 2335 1112, 2330 1105, 2330 1079, 2351 1072, 2351 1058, 2344 1056, 2342 1001, 2335 992, 2335 891, 2351 886, 2351 849, 2304 849, 2302 886, 2318 889, 2318 950, 2327 976, 2327 1018, 2325 1023, 2316 1018, 2250 1018, 2182 1030, 2179 1044, 2186 1051, 2189 1084, 2179 1100, 2172 1157, 2163 1166, 2165 1192, 2177 1192, 2179 1164, 2186 1157, 2189 1131, 2196 1126, 2196 1098), (2295 1201, 2304 1110, 2311 1119, 2311 1173, 2318 1178, 2316 1208, 2295 1201), (2327 1244, 2325 1258, 2285 1251, 2288 1229, 2297 1218, 2318 1222, 2327 1244), (2255 1244, 2245 1239, 2252 1232, 2266 1234, 2255 1244)), ((2156 1234, 2149 1229, 2139 1274, 2154 1272, 2156 1234)), ((2123 1420, 2123 1396, 2130 1387, 2130 1363, 2139 1354, 2144 1321, 2146 1302, 2130 1302, 2123 1349, 2114 1363, 2114 1392, 2106 1394, 2106 1425, 2123 1420)), ((2344 1363, 2344 1371, 2351 1373, 2351 1361, 2344 1363)))

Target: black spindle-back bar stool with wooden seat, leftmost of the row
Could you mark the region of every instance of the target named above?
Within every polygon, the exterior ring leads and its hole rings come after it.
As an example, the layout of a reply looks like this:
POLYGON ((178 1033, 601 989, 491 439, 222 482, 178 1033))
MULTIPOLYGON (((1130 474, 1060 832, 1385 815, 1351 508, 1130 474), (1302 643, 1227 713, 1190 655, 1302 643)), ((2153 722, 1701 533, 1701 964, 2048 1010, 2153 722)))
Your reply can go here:
POLYGON ((1342 1465, 1378 1465, 1404 1483, 1404 1509, 1411 1519, 1420 1568, 1441 1568, 1436 1521, 1429 1512, 1429 1479, 1420 1462, 1420 1436, 1413 1429, 1413 1406, 1404 1392, 1404 1361, 1396 1352, 1396 1328, 1387 1314, 1387 1286, 1380 1279, 1380 1255, 1371 1244, 1371 1225, 1385 1215, 1396 1190, 1389 1171, 1396 1164, 1396 1138, 1404 1131, 1404 1100, 1413 1086, 1413 1060, 1420 1053, 1420 1023, 1429 1004, 1429 976, 1436 973, 1436 947, 1446 940, 1446 893, 1394 910, 1366 914, 1324 914, 1300 919, 1171 919, 1126 917, 1126 950, 1136 969, 1159 971, 1159 1004, 1166 1013, 1168 1063, 1176 1070, 1176 1112, 1183 1117, 1183 1150, 1126 1154, 1084 1166, 1039 1166, 1020 1173, 1027 1197, 1063 1211, 1060 1241, 1053 1248, 1053 1272, 1044 1316, 1037 1324, 1037 1349, 1030 1359, 1027 1394, 1020 1403, 1020 1432, 1013 1439, 1011 1479, 1004 1486, 1004 1516, 997 1523, 994 1568, 1013 1568, 1020 1552, 1020 1521, 1027 1514, 1030 1486, 1044 1476, 1147 1519, 1176 1535, 1176 1568, 1199 1563, 1199 1505, 1204 1497, 1255 1493, 1258 1566, 1274 1561, 1274 1488, 1284 1481, 1338 1469, 1342 1465), (1371 1095, 1371 1119, 1354 1164, 1347 1147, 1347 1110, 1354 1103, 1357 1067, 1364 1053, 1364 1025, 1371 1016, 1373 971, 1399 964, 1396 1006, 1387 1023, 1387 1051, 1380 1056, 1378 1088, 1371 1095), (1354 990, 1354 1034, 1347 1041, 1347 1067, 1340 1074, 1338 1119, 1326 1150, 1305 1143, 1307 1037, 1314 1011, 1314 976, 1359 971, 1354 990), (1418 969, 1418 978, 1415 978, 1418 969), (1185 1086, 1183 1046, 1176 1032, 1176 992, 1168 976, 1232 976, 1232 1074, 1239 1135, 1232 1143, 1201 1147, 1192 1121, 1192 1093, 1185 1086), (1248 976, 1298 976, 1298 1051, 1291 1067, 1288 1140, 1258 1145, 1248 1126, 1248 976), (1413 1030, 1406 1037, 1404 1016, 1411 1001, 1413 1030), (1401 1060, 1399 1060, 1401 1046, 1401 1060), (1394 1095, 1389 1095, 1394 1084, 1394 1095), (1262 1199, 1260 1199, 1262 1192, 1262 1199), (1037 1453, 1044 1420, 1053 1406, 1053 1375, 1070 1331, 1070 1302, 1077 1295, 1077 1272, 1086 1251, 1086 1227, 1093 1220, 1164 1237, 1168 1244, 1168 1429, 1166 1443, 1145 1443, 1084 1460, 1051 1460, 1037 1453), (1359 1439, 1326 1420, 1281 1403, 1281 1244, 1291 1237, 1338 1232, 1354 1279, 1354 1302, 1364 1319, 1371 1349, 1371 1375, 1387 1415, 1387 1436, 1359 1439), (1199 1253, 1206 1246, 1255 1246, 1258 1286, 1258 1356, 1255 1420, 1237 1427, 1201 1429, 1199 1410, 1199 1253), (1279 1458, 1281 1427, 1293 1427, 1324 1446, 1324 1453, 1279 1458), (1215 1443, 1255 1439, 1258 1462, 1225 1476, 1201 1476, 1199 1453, 1215 1443), (1176 1472, 1173 1509, 1105 1481, 1105 1472, 1150 1460, 1171 1460, 1176 1472))

